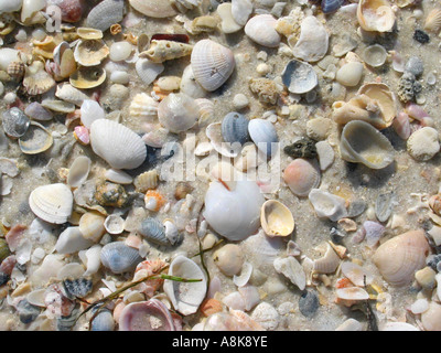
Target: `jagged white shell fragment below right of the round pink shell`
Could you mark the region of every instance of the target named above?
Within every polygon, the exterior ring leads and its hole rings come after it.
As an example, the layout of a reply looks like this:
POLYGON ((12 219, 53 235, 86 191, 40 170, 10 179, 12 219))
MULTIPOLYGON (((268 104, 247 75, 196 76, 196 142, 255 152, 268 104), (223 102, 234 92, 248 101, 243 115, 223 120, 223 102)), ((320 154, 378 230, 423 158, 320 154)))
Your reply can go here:
POLYGON ((347 216, 346 200, 320 189, 312 189, 308 199, 314 206, 319 217, 326 217, 333 222, 347 216))

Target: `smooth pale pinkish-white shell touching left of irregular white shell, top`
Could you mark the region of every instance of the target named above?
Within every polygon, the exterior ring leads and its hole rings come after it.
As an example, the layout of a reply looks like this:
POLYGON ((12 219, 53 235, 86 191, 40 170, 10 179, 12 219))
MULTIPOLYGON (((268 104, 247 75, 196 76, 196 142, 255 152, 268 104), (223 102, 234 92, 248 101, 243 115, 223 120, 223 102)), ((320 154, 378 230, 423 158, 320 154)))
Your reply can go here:
POLYGON ((245 25, 245 34, 259 45, 278 47, 281 36, 275 29, 276 22, 268 13, 255 15, 245 25))

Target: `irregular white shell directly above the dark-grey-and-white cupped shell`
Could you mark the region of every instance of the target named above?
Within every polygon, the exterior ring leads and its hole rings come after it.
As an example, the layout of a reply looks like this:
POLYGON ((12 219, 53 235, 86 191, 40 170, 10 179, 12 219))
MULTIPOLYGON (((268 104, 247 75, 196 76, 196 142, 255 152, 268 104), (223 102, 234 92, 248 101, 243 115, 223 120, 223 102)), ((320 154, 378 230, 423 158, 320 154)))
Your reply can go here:
POLYGON ((305 62, 318 62, 326 55, 329 34, 324 25, 313 15, 303 19, 300 38, 292 49, 297 58, 305 62))

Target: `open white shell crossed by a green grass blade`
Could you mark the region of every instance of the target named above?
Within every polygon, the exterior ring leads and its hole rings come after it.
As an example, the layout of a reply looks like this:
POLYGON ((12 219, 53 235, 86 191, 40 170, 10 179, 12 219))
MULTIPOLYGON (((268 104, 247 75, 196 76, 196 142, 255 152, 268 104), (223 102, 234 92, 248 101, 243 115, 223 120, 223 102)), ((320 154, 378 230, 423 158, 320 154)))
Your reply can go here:
POLYGON ((165 279, 163 285, 163 290, 176 311, 183 315, 195 313, 207 289, 204 271, 193 260, 180 255, 170 264, 169 276, 202 279, 198 282, 186 284, 165 279))

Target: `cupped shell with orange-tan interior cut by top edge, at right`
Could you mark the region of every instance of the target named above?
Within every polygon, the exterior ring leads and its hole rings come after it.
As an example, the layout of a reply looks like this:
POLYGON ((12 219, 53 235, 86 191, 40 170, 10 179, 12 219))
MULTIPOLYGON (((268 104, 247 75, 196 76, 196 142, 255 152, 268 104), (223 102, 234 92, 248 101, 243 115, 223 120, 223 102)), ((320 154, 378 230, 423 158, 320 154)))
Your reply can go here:
POLYGON ((387 0, 361 0, 357 20, 365 31, 390 32, 395 24, 395 14, 387 0))

